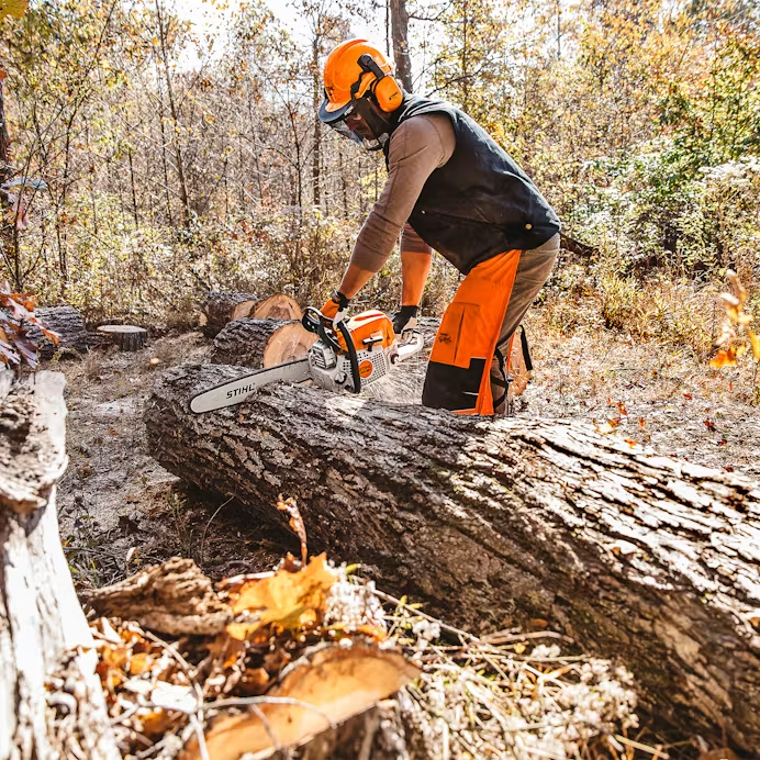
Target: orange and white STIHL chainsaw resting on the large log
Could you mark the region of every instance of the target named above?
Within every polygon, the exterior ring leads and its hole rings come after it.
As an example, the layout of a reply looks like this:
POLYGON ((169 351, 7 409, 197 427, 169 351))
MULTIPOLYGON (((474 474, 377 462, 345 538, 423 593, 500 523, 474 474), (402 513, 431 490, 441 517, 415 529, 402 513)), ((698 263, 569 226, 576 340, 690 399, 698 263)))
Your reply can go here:
POLYGON ((191 411, 201 414, 239 404, 277 381, 311 380, 329 391, 359 393, 391 375, 424 345, 422 334, 414 329, 404 331, 404 343, 400 344, 391 321, 377 310, 333 324, 317 309, 309 306, 301 324, 318 336, 306 356, 201 391, 190 399, 191 411))

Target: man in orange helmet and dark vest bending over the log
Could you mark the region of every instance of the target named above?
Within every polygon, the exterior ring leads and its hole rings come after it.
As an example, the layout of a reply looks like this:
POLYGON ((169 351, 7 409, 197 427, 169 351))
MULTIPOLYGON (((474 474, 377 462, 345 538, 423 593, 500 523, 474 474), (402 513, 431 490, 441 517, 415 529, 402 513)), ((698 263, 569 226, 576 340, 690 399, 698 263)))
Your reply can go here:
POLYGON ((559 220, 527 175, 459 109, 411 96, 382 53, 349 40, 327 57, 320 119, 369 150, 388 181, 323 314, 340 317, 401 237, 396 334, 415 324, 432 249, 462 275, 436 336, 423 404, 459 414, 503 413, 512 335, 559 250, 559 220))

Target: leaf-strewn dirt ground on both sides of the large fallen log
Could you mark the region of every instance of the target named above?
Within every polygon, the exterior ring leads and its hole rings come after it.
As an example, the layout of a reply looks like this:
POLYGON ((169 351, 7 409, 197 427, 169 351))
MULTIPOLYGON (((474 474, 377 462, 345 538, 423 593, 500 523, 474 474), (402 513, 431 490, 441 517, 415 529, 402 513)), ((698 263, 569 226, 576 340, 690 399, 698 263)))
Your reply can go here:
MULTIPOLYGON (((760 406, 752 405, 760 380, 749 361, 714 371, 684 349, 612 333, 541 334, 540 311, 528 333, 536 370, 518 415, 575 418, 632 445, 760 477, 760 406)), ((283 546, 297 548, 238 505, 187 489, 147 452, 142 417, 152 385, 172 365, 208 360, 211 345, 186 333, 135 354, 101 349, 51 367, 68 381, 70 465, 60 522, 80 585, 109 583, 174 555, 192 557, 212 578, 257 572, 278 561, 283 546)), ((372 395, 418 402, 424 365, 417 359, 372 395)))

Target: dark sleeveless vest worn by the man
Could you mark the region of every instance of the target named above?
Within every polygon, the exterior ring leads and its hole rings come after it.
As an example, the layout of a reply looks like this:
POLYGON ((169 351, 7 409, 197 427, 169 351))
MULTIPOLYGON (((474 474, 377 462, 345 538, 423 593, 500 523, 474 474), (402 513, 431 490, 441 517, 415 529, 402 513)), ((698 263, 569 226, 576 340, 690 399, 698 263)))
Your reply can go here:
MULTIPOLYGON (((425 113, 445 113, 457 144, 425 182, 409 217, 425 243, 467 275, 505 250, 537 248, 559 232, 559 219, 530 178, 495 141, 454 105, 404 96, 393 127, 425 113)), ((385 164, 390 141, 385 144, 385 164)))

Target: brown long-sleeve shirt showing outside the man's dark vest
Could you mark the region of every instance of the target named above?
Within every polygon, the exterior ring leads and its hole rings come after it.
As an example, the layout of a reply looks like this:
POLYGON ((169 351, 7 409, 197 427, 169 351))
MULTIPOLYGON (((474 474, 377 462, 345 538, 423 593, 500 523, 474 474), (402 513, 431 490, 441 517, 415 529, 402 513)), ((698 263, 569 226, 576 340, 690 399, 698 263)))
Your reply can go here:
POLYGON ((431 253, 406 222, 427 178, 448 161, 456 147, 450 119, 443 113, 413 116, 391 135, 388 180, 354 245, 351 262, 380 271, 403 228, 401 249, 431 253))

